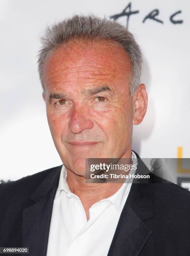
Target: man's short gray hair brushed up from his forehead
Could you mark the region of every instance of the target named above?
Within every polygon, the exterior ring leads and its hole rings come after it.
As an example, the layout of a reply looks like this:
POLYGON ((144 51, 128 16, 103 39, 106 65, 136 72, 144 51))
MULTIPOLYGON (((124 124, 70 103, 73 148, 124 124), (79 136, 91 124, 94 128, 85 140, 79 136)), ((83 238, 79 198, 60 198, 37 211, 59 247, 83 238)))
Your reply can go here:
POLYGON ((94 15, 74 15, 52 27, 47 27, 45 36, 41 38, 42 48, 38 54, 38 72, 43 89, 42 72, 47 54, 52 49, 62 46, 72 39, 106 40, 122 46, 131 61, 130 93, 131 95, 134 94, 140 84, 142 64, 140 47, 125 26, 116 21, 101 19, 94 15))

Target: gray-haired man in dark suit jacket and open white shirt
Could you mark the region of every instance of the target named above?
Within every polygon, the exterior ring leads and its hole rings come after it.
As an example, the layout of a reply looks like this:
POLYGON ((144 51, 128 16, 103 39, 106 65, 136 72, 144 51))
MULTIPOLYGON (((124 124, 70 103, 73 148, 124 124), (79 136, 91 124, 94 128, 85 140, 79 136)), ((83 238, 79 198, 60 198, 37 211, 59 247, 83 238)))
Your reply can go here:
POLYGON ((31 256, 189 255, 188 191, 153 175, 86 182, 88 158, 131 159, 136 173, 148 172, 132 151, 133 124, 147 109, 141 62, 116 22, 74 16, 47 29, 39 73, 63 165, 1 185, 0 246, 26 246, 31 256))

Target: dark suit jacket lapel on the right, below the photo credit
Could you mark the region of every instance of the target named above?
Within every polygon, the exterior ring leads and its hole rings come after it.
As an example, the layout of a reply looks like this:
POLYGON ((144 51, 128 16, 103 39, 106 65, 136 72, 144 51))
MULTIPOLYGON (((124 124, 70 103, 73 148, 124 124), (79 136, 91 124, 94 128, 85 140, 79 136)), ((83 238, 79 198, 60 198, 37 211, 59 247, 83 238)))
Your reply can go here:
MULTIPOLYGON (((138 159, 136 173, 148 174, 148 168, 138 159)), ((137 182, 137 180, 135 181, 137 182)), ((154 217, 153 184, 133 183, 123 207, 108 256, 138 256, 152 234, 145 220, 154 217)))

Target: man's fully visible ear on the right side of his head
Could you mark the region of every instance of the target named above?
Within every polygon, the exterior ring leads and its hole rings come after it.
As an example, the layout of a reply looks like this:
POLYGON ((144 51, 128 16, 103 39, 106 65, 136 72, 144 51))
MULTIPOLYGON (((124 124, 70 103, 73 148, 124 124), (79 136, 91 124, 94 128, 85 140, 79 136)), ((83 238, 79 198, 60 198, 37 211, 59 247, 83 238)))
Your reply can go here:
POLYGON ((138 125, 143 121, 147 110, 148 96, 145 84, 140 84, 133 95, 133 124, 138 125))

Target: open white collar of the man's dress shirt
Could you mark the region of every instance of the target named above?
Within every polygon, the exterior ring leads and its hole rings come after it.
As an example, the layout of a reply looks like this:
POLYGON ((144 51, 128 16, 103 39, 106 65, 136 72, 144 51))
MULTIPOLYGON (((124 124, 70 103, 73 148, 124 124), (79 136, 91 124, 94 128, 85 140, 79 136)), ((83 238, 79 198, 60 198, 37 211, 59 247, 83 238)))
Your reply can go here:
MULTIPOLYGON (((137 164, 138 159, 135 152, 133 151, 131 153, 131 158, 133 160, 133 164, 137 164)), ((134 169, 130 171, 130 174, 132 173, 135 173, 134 169)), ((121 211, 128 197, 128 194, 130 192, 132 181, 133 179, 130 179, 129 182, 123 183, 120 189, 118 189, 114 195, 107 197, 105 199, 102 199, 99 202, 110 201, 117 211, 121 211)), ((62 168, 61 168, 59 184, 57 187, 57 192, 55 194, 55 200, 60 195, 60 192, 62 190, 64 190, 66 193, 70 192, 69 186, 67 184, 67 170, 64 165, 62 165, 62 168)))

